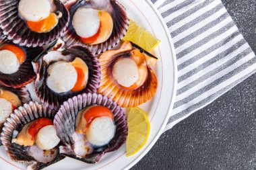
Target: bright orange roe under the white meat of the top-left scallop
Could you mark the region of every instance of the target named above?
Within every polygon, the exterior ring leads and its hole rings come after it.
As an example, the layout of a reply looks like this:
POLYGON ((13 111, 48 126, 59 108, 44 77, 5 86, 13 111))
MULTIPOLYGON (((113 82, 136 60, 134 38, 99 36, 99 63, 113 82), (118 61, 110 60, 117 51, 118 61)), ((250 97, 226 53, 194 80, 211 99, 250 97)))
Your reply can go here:
POLYGON ((58 19, 55 13, 50 13, 49 17, 46 17, 38 22, 27 21, 26 23, 30 30, 42 33, 51 31, 58 24, 58 19))

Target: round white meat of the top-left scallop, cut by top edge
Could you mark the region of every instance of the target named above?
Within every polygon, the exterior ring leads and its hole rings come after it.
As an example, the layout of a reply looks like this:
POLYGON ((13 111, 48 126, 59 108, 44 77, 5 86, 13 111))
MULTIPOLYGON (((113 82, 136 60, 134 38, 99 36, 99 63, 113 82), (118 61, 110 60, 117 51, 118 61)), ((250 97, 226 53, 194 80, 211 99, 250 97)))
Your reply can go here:
POLYGON ((49 0, 21 0, 18 12, 26 21, 38 22, 50 15, 51 2, 49 0))

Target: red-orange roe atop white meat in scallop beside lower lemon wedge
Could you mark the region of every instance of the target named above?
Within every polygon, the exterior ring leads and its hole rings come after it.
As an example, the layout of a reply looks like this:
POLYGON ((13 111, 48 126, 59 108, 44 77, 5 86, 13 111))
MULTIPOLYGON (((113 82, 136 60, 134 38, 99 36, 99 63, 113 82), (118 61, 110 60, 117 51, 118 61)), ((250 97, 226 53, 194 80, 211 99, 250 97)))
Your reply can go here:
POLYGON ((111 119, 114 119, 112 112, 103 105, 95 105, 91 108, 88 108, 88 110, 86 110, 86 112, 84 113, 84 118, 87 122, 86 126, 90 126, 95 118, 99 118, 102 116, 107 116, 111 119))

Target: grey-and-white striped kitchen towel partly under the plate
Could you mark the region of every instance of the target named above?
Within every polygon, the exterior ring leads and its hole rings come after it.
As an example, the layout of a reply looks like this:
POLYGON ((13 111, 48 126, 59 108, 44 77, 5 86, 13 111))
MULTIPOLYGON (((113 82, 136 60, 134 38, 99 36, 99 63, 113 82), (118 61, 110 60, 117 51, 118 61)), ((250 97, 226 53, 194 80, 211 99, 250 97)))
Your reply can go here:
POLYGON ((177 54, 172 128, 255 73, 256 58, 220 0, 151 0, 177 54))

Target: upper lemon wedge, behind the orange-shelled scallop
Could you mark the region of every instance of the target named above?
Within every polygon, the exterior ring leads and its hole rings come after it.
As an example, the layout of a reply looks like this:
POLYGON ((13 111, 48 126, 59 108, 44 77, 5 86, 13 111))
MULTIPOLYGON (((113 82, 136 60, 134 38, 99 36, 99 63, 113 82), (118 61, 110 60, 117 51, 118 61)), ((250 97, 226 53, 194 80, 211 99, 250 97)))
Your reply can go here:
POLYGON ((153 50, 161 41, 154 37, 150 32, 138 26, 133 20, 130 19, 127 34, 123 38, 125 41, 131 41, 144 50, 153 50))

